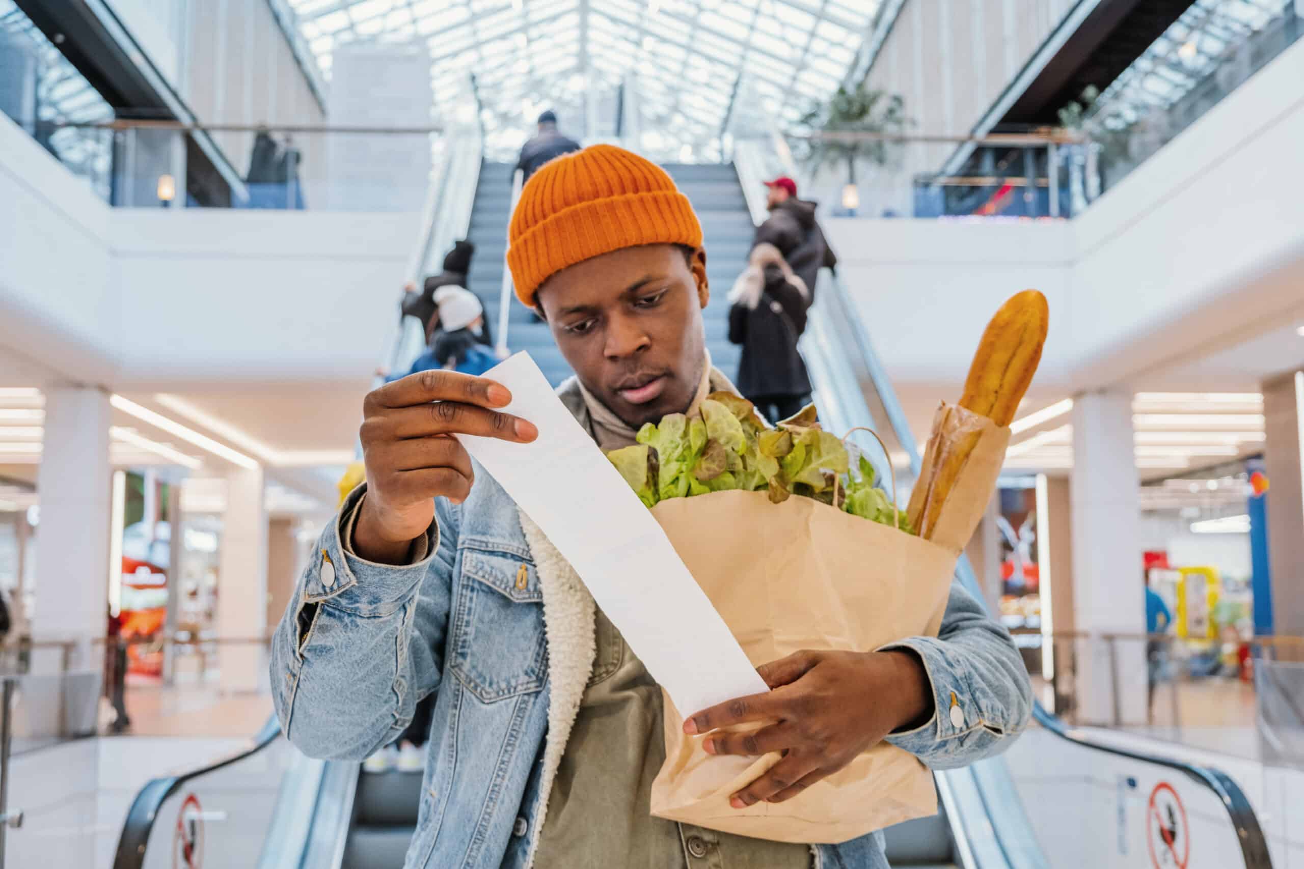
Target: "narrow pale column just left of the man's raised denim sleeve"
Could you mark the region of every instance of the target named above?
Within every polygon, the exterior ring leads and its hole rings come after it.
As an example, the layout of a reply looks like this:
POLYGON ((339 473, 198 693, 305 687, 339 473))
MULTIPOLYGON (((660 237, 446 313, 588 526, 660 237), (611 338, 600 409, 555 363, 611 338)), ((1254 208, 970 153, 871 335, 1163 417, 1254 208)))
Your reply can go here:
MULTIPOLYGON (((267 511, 262 469, 227 473, 227 509, 222 519, 218 563, 218 636, 261 637, 267 632, 267 511)), ((223 691, 259 691, 267 683, 263 648, 219 646, 223 691)))

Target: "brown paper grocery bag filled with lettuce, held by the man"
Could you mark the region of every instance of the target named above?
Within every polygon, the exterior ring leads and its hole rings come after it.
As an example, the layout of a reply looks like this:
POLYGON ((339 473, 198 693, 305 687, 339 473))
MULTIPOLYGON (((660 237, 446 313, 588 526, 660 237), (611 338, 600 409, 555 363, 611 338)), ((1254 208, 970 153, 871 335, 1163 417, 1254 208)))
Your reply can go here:
MULTIPOLYGON (((675 498, 652 515, 754 664, 801 649, 868 651, 936 634, 956 558, 983 512, 970 502, 986 507, 1000 470, 999 457, 987 459, 1004 455, 1007 442, 1008 430, 985 431, 983 455, 952 489, 948 509, 974 517, 958 543, 925 541, 810 498, 772 504, 764 492, 675 498)), ((948 528, 958 538, 958 522, 948 528)), ((657 817, 776 842, 838 843, 936 812, 932 774, 887 743, 790 800, 734 809, 730 795, 778 756, 707 754, 700 736, 683 734, 669 696, 664 719, 666 760, 652 783, 657 817)))

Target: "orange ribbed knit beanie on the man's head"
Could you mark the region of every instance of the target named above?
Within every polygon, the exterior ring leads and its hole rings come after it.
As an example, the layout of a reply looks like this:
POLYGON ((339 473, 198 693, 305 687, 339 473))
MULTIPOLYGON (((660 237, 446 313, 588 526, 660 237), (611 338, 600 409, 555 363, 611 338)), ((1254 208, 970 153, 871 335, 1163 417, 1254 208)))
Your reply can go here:
POLYGON ((614 145, 593 145, 539 169, 507 232, 516 298, 567 266, 638 245, 702 246, 702 224, 665 169, 614 145))

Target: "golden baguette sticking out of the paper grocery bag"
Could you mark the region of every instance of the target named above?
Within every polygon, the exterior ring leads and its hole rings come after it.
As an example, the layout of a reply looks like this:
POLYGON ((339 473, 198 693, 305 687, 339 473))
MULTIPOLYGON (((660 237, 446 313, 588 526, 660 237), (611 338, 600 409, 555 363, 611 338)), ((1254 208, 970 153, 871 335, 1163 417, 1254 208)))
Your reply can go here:
MULTIPOLYGON (((1035 289, 1007 300, 987 323, 978 343, 960 406, 987 417, 1000 427, 1008 426, 1037 373, 1048 326, 1046 297, 1035 289)), ((947 414, 943 420, 953 416, 947 414)), ((941 508, 982 436, 973 427, 947 436, 947 429, 952 426, 940 427, 928 444, 928 451, 934 453, 932 461, 925 463, 928 478, 919 479, 917 485, 917 489, 922 487, 923 496, 910 499, 910 522, 925 539, 932 537, 941 508)))

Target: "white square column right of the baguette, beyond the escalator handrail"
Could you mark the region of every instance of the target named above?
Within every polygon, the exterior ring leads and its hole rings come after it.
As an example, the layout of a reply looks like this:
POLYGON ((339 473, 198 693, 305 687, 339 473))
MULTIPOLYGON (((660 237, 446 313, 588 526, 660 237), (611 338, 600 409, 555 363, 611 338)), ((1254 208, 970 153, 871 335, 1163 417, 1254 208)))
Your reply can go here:
POLYGON ((1072 421, 1073 621, 1078 632, 1095 634, 1077 644, 1078 719, 1144 723, 1145 642, 1118 641, 1111 655, 1111 644, 1098 638, 1145 632, 1132 393, 1111 390, 1078 396, 1072 421))

